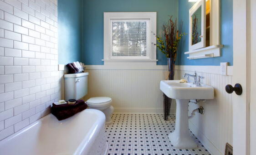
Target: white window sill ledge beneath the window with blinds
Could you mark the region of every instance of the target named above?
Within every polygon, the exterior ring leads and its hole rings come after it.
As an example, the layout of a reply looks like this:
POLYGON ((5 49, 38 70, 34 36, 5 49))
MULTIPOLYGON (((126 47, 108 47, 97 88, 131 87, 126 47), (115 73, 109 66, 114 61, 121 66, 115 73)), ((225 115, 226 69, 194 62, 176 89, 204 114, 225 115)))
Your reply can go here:
POLYGON ((104 65, 156 65, 158 60, 148 59, 102 59, 104 65))

